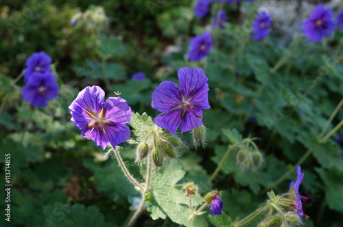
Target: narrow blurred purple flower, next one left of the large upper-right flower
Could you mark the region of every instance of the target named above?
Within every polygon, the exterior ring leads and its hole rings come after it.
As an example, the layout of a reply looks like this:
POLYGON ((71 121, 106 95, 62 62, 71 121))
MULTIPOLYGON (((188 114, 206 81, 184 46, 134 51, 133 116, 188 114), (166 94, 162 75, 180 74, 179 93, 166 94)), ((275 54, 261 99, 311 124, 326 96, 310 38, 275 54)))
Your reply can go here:
POLYGON ((252 38, 254 40, 262 40, 269 35, 270 32, 270 24, 272 22, 272 17, 268 15, 266 12, 260 12, 259 16, 255 18, 252 29, 254 30, 254 34, 252 38))

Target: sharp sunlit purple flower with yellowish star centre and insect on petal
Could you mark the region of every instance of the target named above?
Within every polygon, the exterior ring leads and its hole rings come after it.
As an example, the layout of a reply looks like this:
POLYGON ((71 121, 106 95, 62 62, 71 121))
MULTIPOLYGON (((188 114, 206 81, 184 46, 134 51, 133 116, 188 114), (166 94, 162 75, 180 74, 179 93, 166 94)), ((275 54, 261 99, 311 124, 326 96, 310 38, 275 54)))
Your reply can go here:
POLYGON ((103 150, 109 143, 115 148, 130 138, 130 129, 124 123, 131 120, 126 100, 110 97, 104 101, 104 90, 92 86, 79 92, 69 106, 71 121, 82 130, 82 136, 92 139, 103 150))

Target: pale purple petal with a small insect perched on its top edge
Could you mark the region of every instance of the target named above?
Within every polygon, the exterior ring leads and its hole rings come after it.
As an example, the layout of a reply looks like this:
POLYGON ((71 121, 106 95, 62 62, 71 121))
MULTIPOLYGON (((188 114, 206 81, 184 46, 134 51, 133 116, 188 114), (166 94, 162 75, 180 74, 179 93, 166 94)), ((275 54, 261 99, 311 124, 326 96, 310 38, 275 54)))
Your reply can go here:
POLYGON ((128 123, 131 121, 131 108, 126 100, 119 97, 110 97, 105 103, 105 120, 115 123, 128 123))

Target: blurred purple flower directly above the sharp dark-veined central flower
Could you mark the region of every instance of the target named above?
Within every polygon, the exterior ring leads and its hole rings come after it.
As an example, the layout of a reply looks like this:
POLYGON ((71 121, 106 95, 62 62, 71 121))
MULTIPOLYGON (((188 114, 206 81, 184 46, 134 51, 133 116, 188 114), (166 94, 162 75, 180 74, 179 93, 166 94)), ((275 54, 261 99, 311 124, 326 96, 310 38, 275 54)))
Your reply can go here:
POLYGON ((191 47, 188 52, 189 60, 196 62, 209 54, 209 51, 213 46, 213 40, 210 34, 204 32, 201 36, 192 38, 189 46, 191 47))

